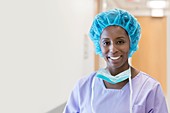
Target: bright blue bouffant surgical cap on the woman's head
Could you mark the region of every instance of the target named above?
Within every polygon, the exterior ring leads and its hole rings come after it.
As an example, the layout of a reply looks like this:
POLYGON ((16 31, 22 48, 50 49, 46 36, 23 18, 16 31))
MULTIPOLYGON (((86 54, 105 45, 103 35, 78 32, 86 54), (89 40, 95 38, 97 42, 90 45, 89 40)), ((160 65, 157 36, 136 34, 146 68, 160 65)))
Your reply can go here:
POLYGON ((108 26, 120 26, 126 30, 130 38, 128 57, 132 57, 133 53, 138 49, 138 42, 141 36, 141 27, 137 19, 123 9, 112 9, 96 15, 89 35, 95 45, 96 54, 99 54, 101 57, 100 35, 108 26))

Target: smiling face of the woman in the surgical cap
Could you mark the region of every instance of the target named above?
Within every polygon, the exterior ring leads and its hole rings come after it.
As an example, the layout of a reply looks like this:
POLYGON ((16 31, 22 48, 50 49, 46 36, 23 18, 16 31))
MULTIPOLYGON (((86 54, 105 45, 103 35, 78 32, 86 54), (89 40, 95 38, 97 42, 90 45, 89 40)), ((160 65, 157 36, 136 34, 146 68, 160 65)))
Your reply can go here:
POLYGON ((100 47, 107 68, 123 71, 129 67, 130 40, 126 31, 119 26, 106 27, 100 37, 100 47))

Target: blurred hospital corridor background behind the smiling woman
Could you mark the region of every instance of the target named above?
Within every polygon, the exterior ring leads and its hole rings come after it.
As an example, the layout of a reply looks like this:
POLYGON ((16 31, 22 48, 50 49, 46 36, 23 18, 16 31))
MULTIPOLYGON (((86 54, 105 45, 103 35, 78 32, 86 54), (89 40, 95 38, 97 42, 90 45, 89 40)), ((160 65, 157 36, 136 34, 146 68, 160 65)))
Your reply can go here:
MULTIPOLYGON (((112 8, 142 26, 131 64, 156 78, 170 105, 170 0, 1 0, 0 113, 62 113, 75 83, 104 66, 88 31, 112 8)), ((168 106, 170 109, 170 106, 168 106)))

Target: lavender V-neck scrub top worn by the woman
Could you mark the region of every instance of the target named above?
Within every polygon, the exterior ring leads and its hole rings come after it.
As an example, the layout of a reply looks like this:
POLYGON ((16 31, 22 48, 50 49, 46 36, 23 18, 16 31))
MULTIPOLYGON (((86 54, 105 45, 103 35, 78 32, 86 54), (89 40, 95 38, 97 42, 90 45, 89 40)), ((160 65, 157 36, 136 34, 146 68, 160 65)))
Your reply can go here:
MULTIPOLYGON (((130 113, 129 83, 122 89, 107 89, 95 74, 77 82, 63 113, 130 113)), ((133 113, 168 113, 160 83, 146 73, 132 79, 132 90, 133 113)))

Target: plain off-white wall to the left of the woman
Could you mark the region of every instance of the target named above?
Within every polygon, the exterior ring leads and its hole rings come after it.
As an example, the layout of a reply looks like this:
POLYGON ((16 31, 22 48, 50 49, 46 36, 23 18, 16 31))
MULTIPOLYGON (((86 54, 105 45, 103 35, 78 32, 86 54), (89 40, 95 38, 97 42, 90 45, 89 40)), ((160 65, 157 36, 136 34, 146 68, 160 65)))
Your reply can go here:
POLYGON ((93 16, 93 0, 0 1, 0 113, 43 113, 67 100, 93 71, 84 42, 93 16))

